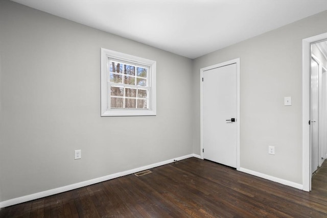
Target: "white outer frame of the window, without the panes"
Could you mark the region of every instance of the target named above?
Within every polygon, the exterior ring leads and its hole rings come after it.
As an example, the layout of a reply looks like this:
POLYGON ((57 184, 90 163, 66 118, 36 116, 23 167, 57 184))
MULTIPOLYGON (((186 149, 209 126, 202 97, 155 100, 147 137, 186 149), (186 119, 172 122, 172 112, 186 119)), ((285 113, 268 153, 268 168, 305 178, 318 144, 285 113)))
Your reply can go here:
POLYGON ((101 48, 101 116, 153 116, 156 115, 156 61, 128 55, 101 48), (140 86, 148 90, 148 108, 110 108, 109 59, 146 66, 148 86, 140 86))

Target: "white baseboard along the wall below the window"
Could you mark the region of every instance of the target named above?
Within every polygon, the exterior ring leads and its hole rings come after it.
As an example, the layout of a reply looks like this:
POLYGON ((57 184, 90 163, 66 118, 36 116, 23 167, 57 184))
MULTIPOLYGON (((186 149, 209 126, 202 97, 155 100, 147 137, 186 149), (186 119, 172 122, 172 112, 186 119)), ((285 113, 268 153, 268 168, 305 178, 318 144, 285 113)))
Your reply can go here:
POLYGON ((69 191, 69 190, 73 190, 73 189, 76 189, 76 188, 81 188, 81 187, 84 187, 84 186, 87 186, 87 185, 96 184, 96 183, 99 183, 99 182, 103 182, 103 181, 107 181, 107 180, 110 180, 110 179, 126 176, 126 175, 137 173, 137 172, 140 172, 140 171, 145 171, 146 169, 162 166, 162 165, 165 165, 165 164, 168 164, 168 163, 172 163, 172 162, 174 162, 176 160, 177 161, 178 160, 183 160, 183 159, 190 158, 190 157, 199 158, 199 155, 189 154, 189 155, 173 158, 173 159, 170 159, 170 160, 165 160, 165 161, 161 161, 161 162, 158 162, 158 163, 153 163, 153 164, 150 164, 150 165, 130 169, 128 171, 115 173, 115 174, 111 174, 111 175, 108 175, 108 176, 99 177, 99 178, 96 178, 96 179, 91 179, 91 180, 87 180, 87 181, 83 181, 83 182, 79 182, 79 183, 75 183, 75 184, 71 184, 71 185, 66 185, 66 186, 62 186, 62 187, 59 187, 59 188, 54 188, 54 189, 50 189, 50 190, 46 190, 46 191, 41 191, 41 192, 34 193, 34 194, 28 195, 28 196, 22 196, 22 197, 10 199, 10 200, 7 200, 7 201, 0 202, 0 208, 8 207, 8 206, 15 205, 15 204, 20 204, 20 203, 27 202, 27 201, 32 201, 32 200, 39 199, 39 198, 44 198, 44 197, 55 195, 57 193, 61 193, 61 192, 64 192, 64 191, 69 191))

